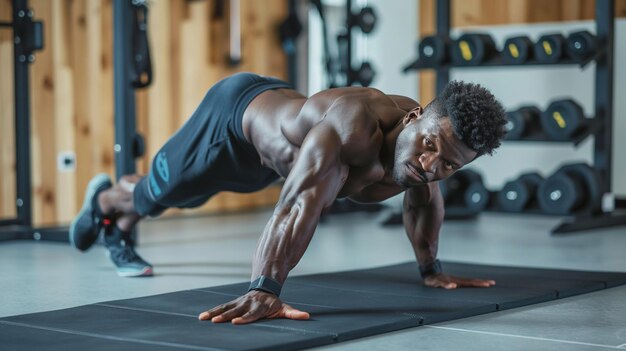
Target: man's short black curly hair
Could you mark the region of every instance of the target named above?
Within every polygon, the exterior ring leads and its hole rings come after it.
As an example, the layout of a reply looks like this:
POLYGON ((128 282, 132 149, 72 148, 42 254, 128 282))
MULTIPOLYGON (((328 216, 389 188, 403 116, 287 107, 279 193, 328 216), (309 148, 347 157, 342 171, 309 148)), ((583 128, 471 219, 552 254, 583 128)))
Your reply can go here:
POLYGON ((424 112, 434 113, 439 118, 450 117, 454 134, 476 151, 477 157, 492 155, 506 133, 502 104, 479 84, 450 82, 424 112))

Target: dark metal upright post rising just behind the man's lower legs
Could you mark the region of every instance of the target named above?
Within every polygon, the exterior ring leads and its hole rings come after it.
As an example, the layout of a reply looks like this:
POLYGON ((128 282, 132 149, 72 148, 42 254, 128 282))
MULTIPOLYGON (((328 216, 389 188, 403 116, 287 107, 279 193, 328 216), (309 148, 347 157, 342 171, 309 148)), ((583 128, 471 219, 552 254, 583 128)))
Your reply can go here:
POLYGON ((133 58, 131 0, 113 2, 113 86, 115 95, 115 176, 135 173, 135 90, 132 86, 133 58))

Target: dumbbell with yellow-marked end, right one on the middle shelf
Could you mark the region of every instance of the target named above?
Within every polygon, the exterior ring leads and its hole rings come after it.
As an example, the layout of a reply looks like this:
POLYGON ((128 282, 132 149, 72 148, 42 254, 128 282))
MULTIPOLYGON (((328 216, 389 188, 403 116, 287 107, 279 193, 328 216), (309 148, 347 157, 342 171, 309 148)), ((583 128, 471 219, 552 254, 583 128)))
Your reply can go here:
POLYGON ((585 113, 572 99, 553 101, 541 115, 541 126, 554 140, 572 140, 585 126, 585 113))

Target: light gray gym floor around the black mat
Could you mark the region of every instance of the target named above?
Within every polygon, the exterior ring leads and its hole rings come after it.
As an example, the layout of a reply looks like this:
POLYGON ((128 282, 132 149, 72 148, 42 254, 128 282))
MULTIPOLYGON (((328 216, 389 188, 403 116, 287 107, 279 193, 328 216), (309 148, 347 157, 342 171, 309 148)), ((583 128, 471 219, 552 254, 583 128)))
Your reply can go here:
MULTIPOLYGON (((0 317, 248 280, 252 252, 270 214, 259 211, 144 222, 139 252, 154 264, 153 278, 117 277, 102 247, 81 254, 69 244, 0 242, 0 317)), ((381 227, 378 223, 383 218, 385 213, 328 218, 292 275, 413 260, 402 227, 381 227)), ((494 213, 478 220, 448 221, 442 229, 439 257, 626 271, 626 227, 551 236, 549 230, 558 222, 553 217, 494 213)), ((626 349, 626 286, 325 347, 416 348, 626 349)))

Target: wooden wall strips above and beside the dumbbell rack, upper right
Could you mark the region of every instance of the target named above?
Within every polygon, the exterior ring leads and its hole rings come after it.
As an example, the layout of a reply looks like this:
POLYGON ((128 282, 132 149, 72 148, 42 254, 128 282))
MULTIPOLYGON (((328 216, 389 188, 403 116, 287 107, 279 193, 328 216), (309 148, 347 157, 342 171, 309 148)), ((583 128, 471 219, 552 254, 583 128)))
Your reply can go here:
MULTIPOLYGON (((418 0, 420 27, 418 36, 435 32, 435 1, 418 0)), ((595 18, 596 0, 451 0, 451 25, 474 27, 590 20, 595 18)), ((626 17, 626 0, 615 1, 616 17, 626 17)), ((420 72, 420 102, 426 104, 436 95, 435 75, 420 72)))

